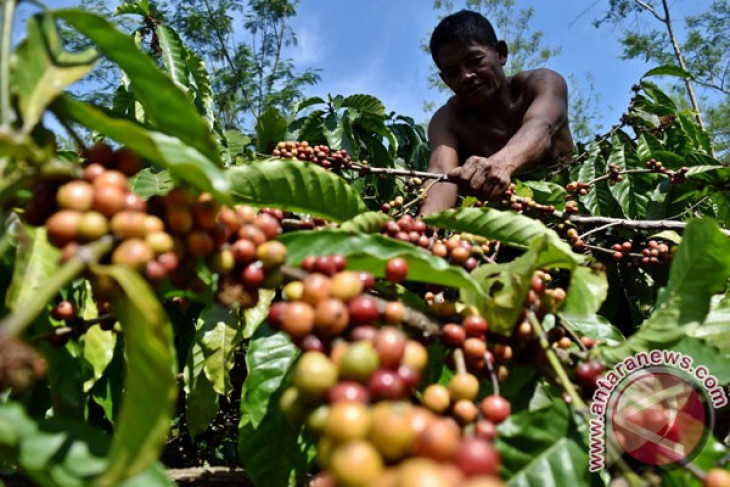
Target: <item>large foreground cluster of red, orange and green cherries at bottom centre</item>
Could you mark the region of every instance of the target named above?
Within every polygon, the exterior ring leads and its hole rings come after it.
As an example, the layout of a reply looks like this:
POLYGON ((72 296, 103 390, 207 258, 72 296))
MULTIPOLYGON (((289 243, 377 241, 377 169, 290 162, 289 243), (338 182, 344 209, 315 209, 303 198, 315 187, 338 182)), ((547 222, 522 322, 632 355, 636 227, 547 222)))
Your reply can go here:
MULTIPOLYGON (((467 437, 427 400, 413 403, 428 353, 400 328, 404 305, 372 297, 372 274, 345 266, 339 255, 305 259, 269 313, 303 351, 280 407, 318 438, 310 485, 501 485, 494 428, 491 441, 467 437)), ((408 265, 394 258, 384 271, 403 282, 408 265)))

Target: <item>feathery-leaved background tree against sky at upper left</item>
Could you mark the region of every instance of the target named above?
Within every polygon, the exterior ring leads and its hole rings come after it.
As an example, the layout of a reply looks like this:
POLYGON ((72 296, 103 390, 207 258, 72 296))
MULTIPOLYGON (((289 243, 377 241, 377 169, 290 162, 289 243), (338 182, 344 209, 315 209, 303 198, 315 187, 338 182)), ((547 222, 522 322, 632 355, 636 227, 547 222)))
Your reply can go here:
MULTIPOLYGON (((299 2, 284 0, 184 0, 119 3, 112 17, 107 2, 81 0, 86 11, 114 18, 119 27, 135 33, 151 54, 155 36, 151 27, 167 24, 205 62, 211 76, 216 118, 224 129, 251 129, 269 107, 287 112, 302 89, 319 81, 315 70, 296 70, 284 48, 296 45, 289 19, 299 2), (143 14, 142 24, 126 14, 143 14)), ((79 50, 88 41, 78 34, 65 36, 69 47, 79 50)), ((121 82, 121 73, 102 62, 80 85, 76 94, 95 103, 110 105, 121 82)))

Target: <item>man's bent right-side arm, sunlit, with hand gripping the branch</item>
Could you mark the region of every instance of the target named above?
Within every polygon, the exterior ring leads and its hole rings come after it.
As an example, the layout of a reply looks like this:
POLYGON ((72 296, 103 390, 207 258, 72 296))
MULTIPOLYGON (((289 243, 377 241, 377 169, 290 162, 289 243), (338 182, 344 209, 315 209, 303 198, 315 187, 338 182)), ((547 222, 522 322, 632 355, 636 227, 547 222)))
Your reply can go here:
POLYGON ((568 87, 562 76, 540 69, 530 73, 525 83, 532 102, 520 129, 492 156, 470 157, 449 173, 462 180, 467 192, 480 198, 498 199, 517 171, 546 160, 555 135, 568 121, 568 87))

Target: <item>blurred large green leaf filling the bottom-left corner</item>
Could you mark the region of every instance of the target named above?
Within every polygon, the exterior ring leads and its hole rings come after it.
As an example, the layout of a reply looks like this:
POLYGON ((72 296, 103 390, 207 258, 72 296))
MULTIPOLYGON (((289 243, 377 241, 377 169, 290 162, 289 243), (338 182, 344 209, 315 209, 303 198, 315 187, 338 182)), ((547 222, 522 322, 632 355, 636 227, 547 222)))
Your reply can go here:
MULTIPOLYGON (((93 485, 93 477, 106 466, 109 443, 109 437, 88 424, 55 418, 36 421, 17 403, 0 405, 3 458, 19 465, 37 485, 93 485)), ((153 463, 118 485, 171 485, 161 472, 161 466, 153 463)))

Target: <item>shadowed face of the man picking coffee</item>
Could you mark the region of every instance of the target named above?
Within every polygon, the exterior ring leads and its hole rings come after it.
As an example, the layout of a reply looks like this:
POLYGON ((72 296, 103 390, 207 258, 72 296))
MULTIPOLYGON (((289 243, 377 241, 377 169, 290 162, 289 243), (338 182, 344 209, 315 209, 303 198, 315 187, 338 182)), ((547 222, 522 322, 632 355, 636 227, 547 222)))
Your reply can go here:
POLYGON ((438 61, 441 79, 470 105, 494 96, 506 79, 502 69, 507 61, 506 46, 495 49, 476 44, 444 44, 439 49, 438 61))

